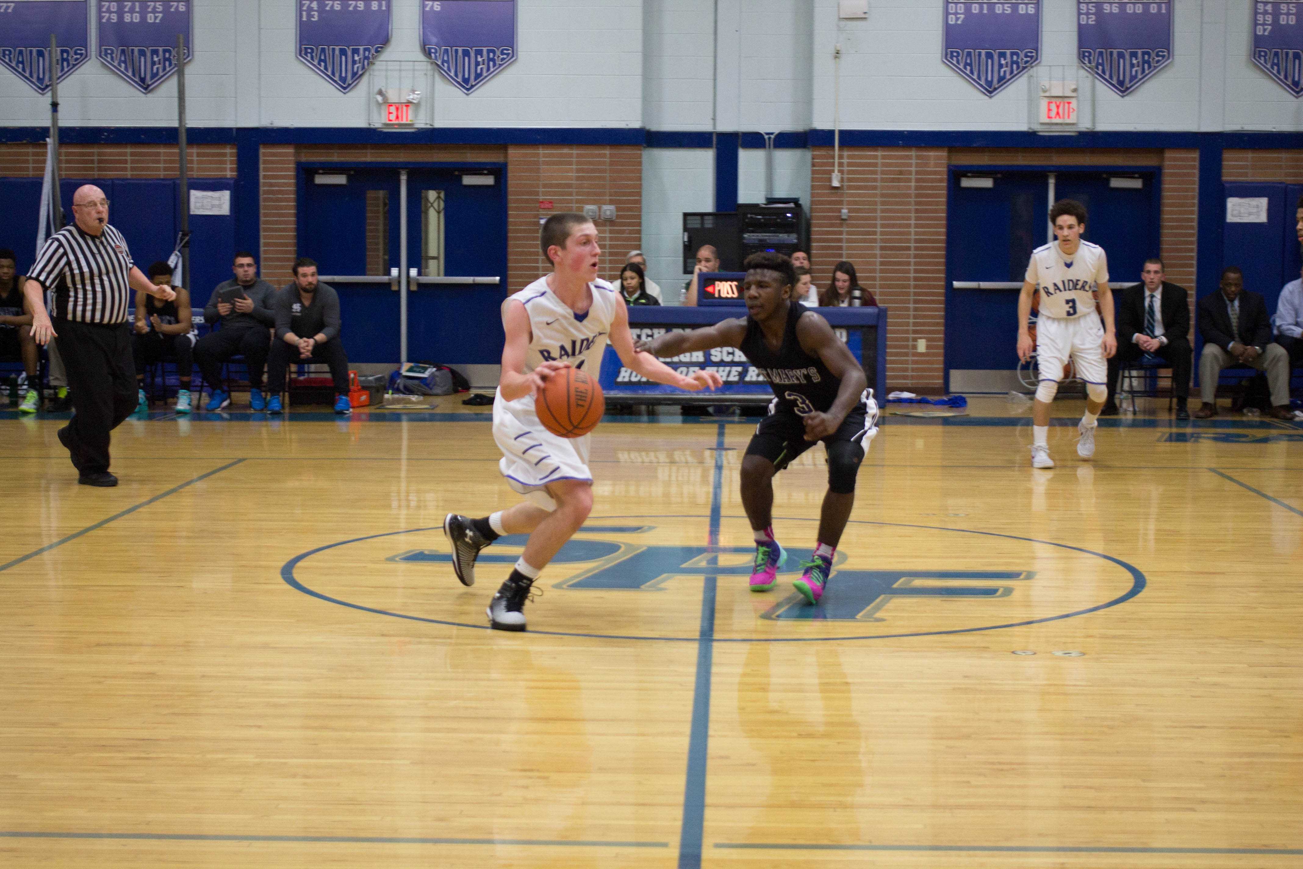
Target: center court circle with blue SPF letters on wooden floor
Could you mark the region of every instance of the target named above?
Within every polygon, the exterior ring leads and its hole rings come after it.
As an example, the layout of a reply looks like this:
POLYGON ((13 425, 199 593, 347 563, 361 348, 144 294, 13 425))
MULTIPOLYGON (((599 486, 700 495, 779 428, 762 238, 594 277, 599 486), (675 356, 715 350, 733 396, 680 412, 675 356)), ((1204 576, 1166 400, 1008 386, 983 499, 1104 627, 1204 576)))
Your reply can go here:
MULTIPOLYGON (((563 547, 526 605, 529 633, 610 640, 818 642, 995 631, 1068 619, 1130 601, 1138 568, 1083 546, 975 529, 851 520, 827 591, 809 606, 792 580, 809 548, 792 547, 773 591, 752 593, 754 543, 745 517, 606 516, 563 547), (691 541, 691 542, 685 542, 691 541), (714 578, 714 618, 702 593, 714 578)), ((775 517, 784 547, 813 539, 817 520, 775 517)), ((440 526, 371 534, 296 555, 293 589, 328 603, 430 625, 489 629, 485 607, 520 558, 524 537, 481 552, 477 582, 452 572, 440 526)), ((808 545, 807 545, 808 546, 808 545)))

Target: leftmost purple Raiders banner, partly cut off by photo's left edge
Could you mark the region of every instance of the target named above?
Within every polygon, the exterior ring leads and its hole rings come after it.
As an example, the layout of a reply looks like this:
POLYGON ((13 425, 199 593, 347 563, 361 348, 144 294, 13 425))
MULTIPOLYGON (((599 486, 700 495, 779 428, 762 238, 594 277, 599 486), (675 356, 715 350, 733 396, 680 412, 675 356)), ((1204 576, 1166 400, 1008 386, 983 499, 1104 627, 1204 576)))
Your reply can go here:
POLYGON ((0 3, 0 65, 38 94, 50 93, 50 35, 59 47, 59 81, 90 59, 86 0, 0 3))

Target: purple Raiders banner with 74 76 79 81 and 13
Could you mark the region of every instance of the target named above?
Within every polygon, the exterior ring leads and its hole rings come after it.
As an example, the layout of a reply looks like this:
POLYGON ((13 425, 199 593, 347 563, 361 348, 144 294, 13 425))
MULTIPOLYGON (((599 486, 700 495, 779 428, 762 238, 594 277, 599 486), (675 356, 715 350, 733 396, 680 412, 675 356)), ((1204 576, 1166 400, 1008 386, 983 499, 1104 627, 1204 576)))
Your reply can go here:
POLYGON ((298 59, 347 94, 390 42, 391 0, 297 0, 298 59))

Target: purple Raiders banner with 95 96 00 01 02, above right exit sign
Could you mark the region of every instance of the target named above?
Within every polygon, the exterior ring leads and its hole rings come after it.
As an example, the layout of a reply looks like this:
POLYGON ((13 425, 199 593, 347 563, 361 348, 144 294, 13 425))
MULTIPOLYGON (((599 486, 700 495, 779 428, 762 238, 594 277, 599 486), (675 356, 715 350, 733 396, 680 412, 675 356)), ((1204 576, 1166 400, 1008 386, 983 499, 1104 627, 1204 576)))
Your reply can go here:
POLYGON ((1171 63, 1171 3, 1076 4, 1078 61, 1118 96, 1171 63))

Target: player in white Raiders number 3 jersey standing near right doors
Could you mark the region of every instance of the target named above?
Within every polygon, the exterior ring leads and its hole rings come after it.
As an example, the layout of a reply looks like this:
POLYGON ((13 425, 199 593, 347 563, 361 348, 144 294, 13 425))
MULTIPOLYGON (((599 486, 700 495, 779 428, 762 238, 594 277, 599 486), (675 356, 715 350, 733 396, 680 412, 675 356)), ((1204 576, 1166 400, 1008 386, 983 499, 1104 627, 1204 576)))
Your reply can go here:
POLYGON ((1109 291, 1109 262, 1104 248, 1081 240, 1085 206, 1061 199, 1050 208, 1050 223, 1058 241, 1032 251, 1018 297, 1018 357, 1024 362, 1036 353, 1040 384, 1032 405, 1032 468, 1053 468, 1049 430, 1050 403, 1058 392, 1068 360, 1085 380, 1085 414, 1076 430, 1076 455, 1095 455, 1095 426, 1109 397, 1106 360, 1118 349, 1113 330, 1113 293, 1109 291), (1040 318, 1033 344, 1027 328, 1032 294, 1041 294, 1040 318), (1098 293, 1098 314, 1095 294, 1098 293), (1104 324, 1100 324, 1100 318, 1104 324))

